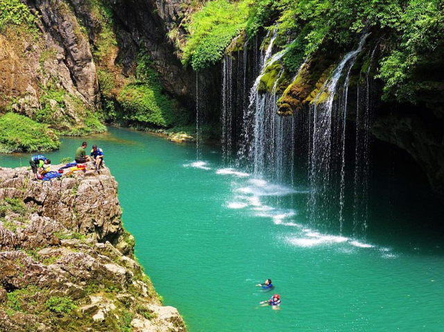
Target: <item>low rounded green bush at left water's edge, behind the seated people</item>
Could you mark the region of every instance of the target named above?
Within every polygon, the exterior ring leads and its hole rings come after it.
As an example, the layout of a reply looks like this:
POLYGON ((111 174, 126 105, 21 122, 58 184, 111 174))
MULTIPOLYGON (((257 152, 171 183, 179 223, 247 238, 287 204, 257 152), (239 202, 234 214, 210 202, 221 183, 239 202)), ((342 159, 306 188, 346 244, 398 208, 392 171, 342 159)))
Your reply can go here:
POLYGON ((14 113, 0 117, 0 152, 41 152, 59 146, 57 135, 48 125, 14 113))

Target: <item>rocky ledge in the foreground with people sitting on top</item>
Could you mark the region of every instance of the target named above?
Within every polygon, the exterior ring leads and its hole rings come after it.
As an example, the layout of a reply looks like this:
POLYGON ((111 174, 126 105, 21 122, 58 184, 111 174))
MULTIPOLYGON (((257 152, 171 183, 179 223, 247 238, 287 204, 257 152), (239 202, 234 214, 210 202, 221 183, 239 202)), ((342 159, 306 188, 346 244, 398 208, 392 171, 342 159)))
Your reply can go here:
POLYGON ((108 168, 32 179, 0 168, 0 331, 186 331, 135 260, 108 168))

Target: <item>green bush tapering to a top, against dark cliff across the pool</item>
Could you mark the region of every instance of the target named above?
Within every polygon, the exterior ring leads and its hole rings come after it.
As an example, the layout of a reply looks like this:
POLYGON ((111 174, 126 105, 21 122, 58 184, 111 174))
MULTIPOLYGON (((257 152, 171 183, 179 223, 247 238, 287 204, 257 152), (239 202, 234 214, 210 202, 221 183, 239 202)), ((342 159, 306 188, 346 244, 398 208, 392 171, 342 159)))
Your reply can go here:
POLYGON ((143 50, 139 53, 136 77, 123 87, 119 96, 121 118, 142 125, 169 127, 175 119, 176 103, 163 94, 151 59, 143 50))

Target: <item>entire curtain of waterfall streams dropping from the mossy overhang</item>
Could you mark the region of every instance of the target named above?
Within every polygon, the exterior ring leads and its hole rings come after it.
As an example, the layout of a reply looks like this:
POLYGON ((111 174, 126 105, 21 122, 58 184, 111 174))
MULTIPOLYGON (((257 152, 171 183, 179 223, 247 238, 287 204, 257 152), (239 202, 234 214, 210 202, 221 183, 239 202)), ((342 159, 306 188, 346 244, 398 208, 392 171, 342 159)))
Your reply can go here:
MULTIPOLYGON (((350 134, 347 125, 348 85, 352 68, 357 56, 364 49, 368 34, 361 36, 355 50, 344 55, 309 105, 309 112, 300 112, 293 116, 279 116, 277 113, 277 102, 280 98, 278 82, 284 74, 282 69, 273 78, 275 82, 271 91, 258 91, 259 85, 262 84, 261 79, 270 72, 267 68, 280 62, 287 51, 275 51, 274 42, 277 35, 277 28, 268 33, 266 38, 269 38, 270 44, 265 49, 256 49, 259 43, 254 39, 251 43, 253 46, 248 51, 246 42, 243 54, 238 51, 237 54, 225 55, 223 58, 221 143, 224 164, 232 166, 230 156, 232 152, 237 151, 235 166, 247 168, 255 178, 266 178, 278 184, 291 183, 293 186, 294 160, 304 152, 305 146, 308 146, 308 153, 305 152, 304 155, 308 155, 307 169, 311 190, 307 205, 310 222, 322 227, 334 226, 335 229, 339 226, 339 232, 342 233, 345 220, 349 220, 345 216, 348 211, 353 211, 354 219, 364 219, 359 225, 366 228, 366 207, 359 204, 364 204, 362 198, 367 195, 368 188, 367 180, 364 180, 368 176, 368 83, 367 91, 361 91, 362 87, 358 89, 359 129, 356 157, 348 155, 350 137, 346 140, 346 136, 350 134), (365 104, 365 112, 362 112, 361 104, 365 104), (351 184, 348 184, 346 179, 350 177, 347 166, 353 158, 356 158, 357 166, 353 183, 354 206, 351 210, 348 204, 351 197, 348 199, 346 195, 346 189, 351 188, 351 184)), ((374 52, 372 58, 373 55, 374 52)), ((307 59, 300 66, 293 81, 306 63, 307 59)), ((367 73, 367 82, 368 76, 367 73)), ((196 86, 198 84, 196 78, 196 86)), ((200 96, 198 105, 201 104, 200 96)), ((197 113, 199 114, 199 110, 197 113)), ((357 222, 355 224, 358 225, 357 222)), ((357 226, 354 226, 354 229, 355 227, 357 226)))

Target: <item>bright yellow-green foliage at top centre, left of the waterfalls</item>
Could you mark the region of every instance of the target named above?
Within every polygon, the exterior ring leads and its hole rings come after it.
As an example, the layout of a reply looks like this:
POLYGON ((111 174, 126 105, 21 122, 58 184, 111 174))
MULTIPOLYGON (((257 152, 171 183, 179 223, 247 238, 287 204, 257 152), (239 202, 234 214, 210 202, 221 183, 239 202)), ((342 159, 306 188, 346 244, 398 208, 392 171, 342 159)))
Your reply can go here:
POLYGON ((191 15, 185 26, 189 33, 182 62, 199 70, 219 61, 232 37, 246 27, 249 5, 253 0, 208 1, 191 15))

